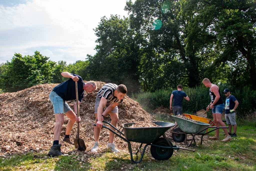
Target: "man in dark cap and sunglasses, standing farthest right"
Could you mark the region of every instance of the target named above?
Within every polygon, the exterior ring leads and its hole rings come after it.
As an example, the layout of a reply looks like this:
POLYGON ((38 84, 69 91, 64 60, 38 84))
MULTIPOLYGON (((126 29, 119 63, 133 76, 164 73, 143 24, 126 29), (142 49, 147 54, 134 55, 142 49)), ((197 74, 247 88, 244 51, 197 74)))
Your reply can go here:
POLYGON ((235 96, 230 94, 230 90, 229 89, 225 89, 223 91, 223 93, 225 93, 225 96, 227 96, 226 98, 226 103, 225 103, 225 117, 226 117, 226 121, 228 124, 228 134, 231 137, 236 137, 237 134, 237 123, 236 123, 236 112, 235 110, 237 109, 238 106, 238 101, 236 99, 235 96), (232 125, 233 125, 233 133, 232 132, 232 125))

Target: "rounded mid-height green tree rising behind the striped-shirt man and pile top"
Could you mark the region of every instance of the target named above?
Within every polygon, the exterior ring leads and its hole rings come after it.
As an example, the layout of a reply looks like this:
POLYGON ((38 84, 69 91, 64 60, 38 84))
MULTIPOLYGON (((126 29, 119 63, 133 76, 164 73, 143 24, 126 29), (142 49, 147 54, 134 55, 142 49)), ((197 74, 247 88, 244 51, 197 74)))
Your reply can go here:
POLYGON ((140 42, 130 27, 129 18, 102 17, 94 31, 98 45, 97 53, 88 55, 90 78, 125 84, 129 92, 138 91, 140 42))

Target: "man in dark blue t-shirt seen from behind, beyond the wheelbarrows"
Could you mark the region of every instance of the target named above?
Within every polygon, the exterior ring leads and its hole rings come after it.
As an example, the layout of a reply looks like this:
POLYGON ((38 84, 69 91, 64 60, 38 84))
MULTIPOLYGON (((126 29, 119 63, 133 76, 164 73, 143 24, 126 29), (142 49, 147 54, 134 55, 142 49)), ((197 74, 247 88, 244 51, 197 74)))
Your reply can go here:
MULTIPOLYGON (((170 97, 170 110, 173 110, 173 113, 175 116, 182 115, 182 100, 185 98, 189 101, 189 97, 185 92, 182 91, 182 85, 177 86, 177 90, 174 90, 172 92, 172 95, 170 97)), ((175 125, 177 123, 175 122, 175 125)))

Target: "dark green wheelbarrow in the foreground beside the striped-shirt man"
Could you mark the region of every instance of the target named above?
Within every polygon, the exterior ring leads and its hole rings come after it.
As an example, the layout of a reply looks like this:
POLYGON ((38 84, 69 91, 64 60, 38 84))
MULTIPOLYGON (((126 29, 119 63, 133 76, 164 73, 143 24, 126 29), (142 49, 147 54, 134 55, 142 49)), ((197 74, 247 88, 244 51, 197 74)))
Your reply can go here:
MULTIPOLYGON (((116 127, 114 127, 109 122, 103 121, 103 123, 106 123, 113 127, 117 132, 113 131, 110 127, 102 126, 103 128, 106 128, 110 130, 112 133, 114 133, 116 136, 123 139, 128 144, 128 151, 131 155, 131 160, 133 163, 140 163, 142 161, 142 158, 144 156, 145 150, 147 146, 151 146, 150 153, 151 155, 157 159, 157 160, 168 160, 173 155, 173 150, 183 149, 183 150, 189 150, 195 152, 195 150, 177 147, 176 145, 173 145, 172 142, 167 139, 165 136, 165 132, 173 127, 175 124, 170 122, 152 122, 156 125, 159 125, 158 127, 140 127, 140 128, 131 128, 135 123, 125 123, 122 124, 122 130, 120 131, 116 127), (163 137, 161 137, 163 136, 163 137), (135 153, 132 152, 132 146, 131 142, 137 142, 141 143, 139 148, 135 153), (141 148, 145 144, 143 151, 141 152, 141 148), (140 152, 141 158, 138 161, 133 160, 133 154, 138 154, 140 152)), ((96 124, 93 124, 96 126, 96 124)), ((120 128, 121 129, 121 128, 120 128)))

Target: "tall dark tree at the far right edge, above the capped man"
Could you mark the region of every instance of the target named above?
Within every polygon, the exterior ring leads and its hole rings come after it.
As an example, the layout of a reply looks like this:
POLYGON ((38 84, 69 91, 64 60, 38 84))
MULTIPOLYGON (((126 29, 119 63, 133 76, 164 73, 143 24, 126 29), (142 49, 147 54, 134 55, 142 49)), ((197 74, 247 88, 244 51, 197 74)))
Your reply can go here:
POLYGON ((230 66, 227 77, 233 85, 256 89, 256 1, 222 1, 218 11, 214 31, 220 55, 215 63, 230 66))

